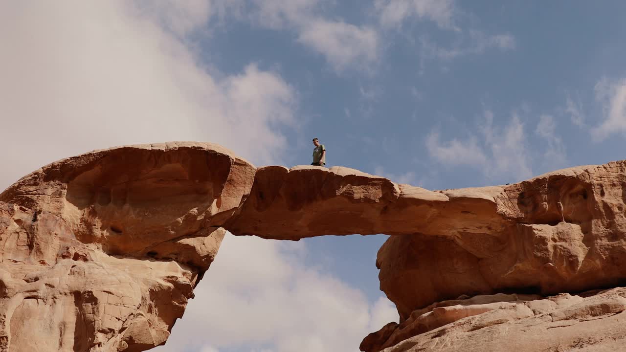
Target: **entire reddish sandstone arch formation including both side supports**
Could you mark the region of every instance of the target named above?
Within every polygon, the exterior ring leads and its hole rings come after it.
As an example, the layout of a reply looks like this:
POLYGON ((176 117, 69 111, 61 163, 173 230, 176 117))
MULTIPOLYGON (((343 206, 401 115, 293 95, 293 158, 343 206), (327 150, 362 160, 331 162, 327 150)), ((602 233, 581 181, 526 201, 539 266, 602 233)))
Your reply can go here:
POLYGON ((401 321, 367 336, 364 351, 496 351, 477 341, 508 349, 505 332, 528 351, 542 350, 524 342, 538 336, 549 350, 593 331, 583 347, 609 346, 626 332, 625 185, 626 162, 612 162, 433 192, 343 167, 257 169, 188 142, 59 160, 0 194, 0 348, 164 343, 225 229, 392 235, 376 265, 401 321))

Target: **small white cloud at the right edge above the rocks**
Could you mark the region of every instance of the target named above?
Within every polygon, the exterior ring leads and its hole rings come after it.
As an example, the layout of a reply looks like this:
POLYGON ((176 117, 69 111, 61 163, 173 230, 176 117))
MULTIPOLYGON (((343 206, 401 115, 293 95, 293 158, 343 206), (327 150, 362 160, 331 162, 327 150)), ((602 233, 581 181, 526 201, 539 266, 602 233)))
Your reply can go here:
POLYGON ((592 128, 593 140, 605 140, 614 133, 626 134, 626 80, 610 82, 604 77, 595 85, 595 94, 605 118, 592 128))

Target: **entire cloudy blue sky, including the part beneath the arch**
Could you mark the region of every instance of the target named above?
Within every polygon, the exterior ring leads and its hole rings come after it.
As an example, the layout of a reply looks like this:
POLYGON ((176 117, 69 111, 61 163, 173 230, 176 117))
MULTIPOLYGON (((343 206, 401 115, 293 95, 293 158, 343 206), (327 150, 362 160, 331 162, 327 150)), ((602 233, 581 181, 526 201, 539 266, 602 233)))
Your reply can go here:
MULTIPOLYGON (((624 158, 623 1, 0 2, 0 189, 59 158, 220 143, 427 189, 624 158)), ((228 235, 158 352, 357 351, 385 235, 228 235)))

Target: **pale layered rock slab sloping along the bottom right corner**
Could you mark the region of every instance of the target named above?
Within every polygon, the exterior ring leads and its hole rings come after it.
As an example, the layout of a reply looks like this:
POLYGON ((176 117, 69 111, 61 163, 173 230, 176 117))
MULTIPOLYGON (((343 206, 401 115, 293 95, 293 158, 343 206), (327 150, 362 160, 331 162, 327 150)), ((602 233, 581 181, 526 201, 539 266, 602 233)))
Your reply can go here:
POLYGON ((626 289, 546 298, 482 296, 433 304, 372 333, 362 351, 622 351, 626 289), (391 332, 390 332, 391 331, 391 332))

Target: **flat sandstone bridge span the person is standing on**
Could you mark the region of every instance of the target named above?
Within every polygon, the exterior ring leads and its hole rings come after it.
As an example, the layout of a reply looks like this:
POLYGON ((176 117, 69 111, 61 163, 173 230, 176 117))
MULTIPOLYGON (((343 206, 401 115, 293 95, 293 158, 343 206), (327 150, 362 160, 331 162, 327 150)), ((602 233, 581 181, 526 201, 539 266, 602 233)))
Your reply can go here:
POLYGON ((503 190, 433 192, 346 167, 271 166, 257 170, 249 199, 226 226, 235 235, 291 240, 502 231, 513 212, 495 201, 503 190))

